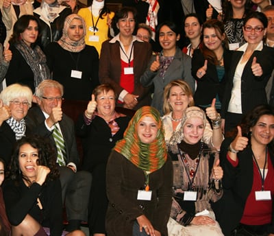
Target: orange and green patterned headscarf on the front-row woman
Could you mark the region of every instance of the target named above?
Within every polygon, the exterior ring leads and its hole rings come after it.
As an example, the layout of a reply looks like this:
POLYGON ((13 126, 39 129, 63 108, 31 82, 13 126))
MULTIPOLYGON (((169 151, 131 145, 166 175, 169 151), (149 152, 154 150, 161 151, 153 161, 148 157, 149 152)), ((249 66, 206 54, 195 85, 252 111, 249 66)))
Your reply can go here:
POLYGON ((155 172, 160 169, 166 162, 167 151, 158 110, 151 106, 143 106, 137 110, 132 120, 129 121, 124 138, 116 143, 114 150, 146 172, 155 172), (138 123, 145 116, 153 117, 158 124, 156 138, 151 143, 142 143, 137 134, 138 123))

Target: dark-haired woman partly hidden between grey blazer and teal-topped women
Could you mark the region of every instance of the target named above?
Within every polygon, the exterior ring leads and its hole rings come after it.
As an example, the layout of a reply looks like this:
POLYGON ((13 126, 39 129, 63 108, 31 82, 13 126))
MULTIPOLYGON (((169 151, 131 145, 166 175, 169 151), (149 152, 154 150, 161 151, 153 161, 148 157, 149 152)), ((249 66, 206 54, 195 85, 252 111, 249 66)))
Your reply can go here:
POLYGON ((203 30, 203 22, 199 16, 195 13, 186 15, 184 19, 184 31, 186 32, 186 38, 190 40, 190 44, 183 48, 184 54, 192 58, 195 49, 198 49, 201 45, 201 32, 203 30))

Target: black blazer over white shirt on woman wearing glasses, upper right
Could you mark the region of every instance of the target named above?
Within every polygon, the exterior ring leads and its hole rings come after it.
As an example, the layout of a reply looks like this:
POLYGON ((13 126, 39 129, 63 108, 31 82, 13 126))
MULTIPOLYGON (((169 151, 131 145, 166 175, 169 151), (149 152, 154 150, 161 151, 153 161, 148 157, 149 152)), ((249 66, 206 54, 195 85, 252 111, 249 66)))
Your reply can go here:
MULTIPOLYGON (((223 97, 223 104, 221 109, 221 116, 225 118, 225 113, 229 105, 229 101, 232 95, 233 78, 236 71, 236 67, 240 58, 242 57, 243 51, 234 51, 232 56, 231 68, 227 75, 227 84, 225 86, 225 94, 223 97)), ((254 51, 245 68, 242 71, 242 82, 241 82, 241 99, 242 99, 242 114, 252 110, 260 104, 267 104, 265 86, 271 76, 274 68, 274 49, 264 45, 262 51, 254 51), (256 56, 257 62, 260 63, 263 71, 263 75, 257 77, 253 75, 251 70, 251 64, 253 58, 256 56)))

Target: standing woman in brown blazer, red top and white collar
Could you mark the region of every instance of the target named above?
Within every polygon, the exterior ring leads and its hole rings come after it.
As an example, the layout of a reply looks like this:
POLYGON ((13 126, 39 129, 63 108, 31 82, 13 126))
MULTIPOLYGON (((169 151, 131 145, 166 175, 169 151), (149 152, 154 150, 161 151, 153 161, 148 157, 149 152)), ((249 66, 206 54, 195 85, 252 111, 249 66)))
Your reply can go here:
POLYGON ((99 62, 101 84, 110 84, 118 95, 117 105, 137 109, 151 102, 150 88, 144 88, 140 77, 151 58, 151 45, 134 36, 136 10, 122 8, 116 12, 112 27, 119 31, 102 45, 99 62))

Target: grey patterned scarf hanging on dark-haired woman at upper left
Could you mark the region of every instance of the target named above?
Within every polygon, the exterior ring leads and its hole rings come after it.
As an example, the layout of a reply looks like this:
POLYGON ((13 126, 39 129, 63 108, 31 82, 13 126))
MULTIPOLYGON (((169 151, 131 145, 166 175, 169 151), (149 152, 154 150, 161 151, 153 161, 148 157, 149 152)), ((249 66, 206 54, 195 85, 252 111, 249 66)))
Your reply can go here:
POLYGON ((21 40, 20 43, 16 43, 15 47, 20 51, 34 73, 34 87, 37 87, 42 80, 51 78, 49 67, 47 67, 47 58, 38 45, 32 48, 21 40))

